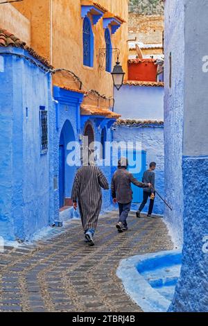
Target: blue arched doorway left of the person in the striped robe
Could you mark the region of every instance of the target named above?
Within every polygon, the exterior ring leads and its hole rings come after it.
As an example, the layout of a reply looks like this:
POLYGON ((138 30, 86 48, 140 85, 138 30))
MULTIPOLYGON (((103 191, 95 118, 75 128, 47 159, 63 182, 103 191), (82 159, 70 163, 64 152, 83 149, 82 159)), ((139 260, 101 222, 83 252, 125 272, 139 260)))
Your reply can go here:
POLYGON ((70 141, 75 141, 73 128, 69 120, 65 121, 60 133, 59 142, 59 206, 71 205, 71 189, 73 178, 76 173, 76 166, 67 164, 67 145, 70 141))

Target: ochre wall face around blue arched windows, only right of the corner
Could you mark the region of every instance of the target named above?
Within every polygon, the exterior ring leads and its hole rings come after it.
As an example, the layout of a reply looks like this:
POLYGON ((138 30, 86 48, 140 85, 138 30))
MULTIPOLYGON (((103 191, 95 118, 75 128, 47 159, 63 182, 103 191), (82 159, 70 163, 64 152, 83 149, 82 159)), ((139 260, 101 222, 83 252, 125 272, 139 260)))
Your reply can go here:
MULTIPOLYGON (((97 2, 128 22, 128 0, 100 0, 97 2)), ((82 79, 84 90, 96 89, 101 94, 112 96, 112 76, 105 72, 105 67, 103 67, 103 71, 98 68, 99 49, 105 48, 103 19, 100 19, 96 25, 92 25, 92 29, 94 32, 94 67, 90 68, 83 66, 83 19, 81 18, 80 1, 53 1, 53 66, 73 70, 82 79)), ((121 50, 119 59, 125 69, 126 78, 128 77, 127 40, 128 23, 124 23, 112 35, 112 46, 121 50)), ((113 57, 115 58, 115 55, 113 57)), ((113 65, 114 62, 113 60, 113 65)), ((62 83, 60 74, 55 76, 54 81, 62 83)), ((71 87, 74 87, 73 85, 71 83, 71 87)))

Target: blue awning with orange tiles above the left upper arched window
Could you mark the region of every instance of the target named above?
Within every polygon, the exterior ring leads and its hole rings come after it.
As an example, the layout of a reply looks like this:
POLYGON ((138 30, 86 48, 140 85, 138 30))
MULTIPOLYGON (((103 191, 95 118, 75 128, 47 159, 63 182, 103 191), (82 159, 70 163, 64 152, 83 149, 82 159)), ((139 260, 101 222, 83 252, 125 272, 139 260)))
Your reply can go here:
POLYGON ((85 18, 88 13, 92 14, 93 24, 96 25, 98 20, 103 17, 107 9, 94 1, 83 0, 81 2, 81 15, 85 18))

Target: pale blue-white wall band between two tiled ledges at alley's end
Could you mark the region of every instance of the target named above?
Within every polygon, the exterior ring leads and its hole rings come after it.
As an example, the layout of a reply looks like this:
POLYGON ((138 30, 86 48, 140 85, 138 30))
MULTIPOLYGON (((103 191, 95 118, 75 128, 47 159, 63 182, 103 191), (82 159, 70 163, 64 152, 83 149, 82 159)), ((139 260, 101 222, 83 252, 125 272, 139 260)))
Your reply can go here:
POLYGON ((164 119, 164 87, 123 85, 114 97, 122 119, 164 119))

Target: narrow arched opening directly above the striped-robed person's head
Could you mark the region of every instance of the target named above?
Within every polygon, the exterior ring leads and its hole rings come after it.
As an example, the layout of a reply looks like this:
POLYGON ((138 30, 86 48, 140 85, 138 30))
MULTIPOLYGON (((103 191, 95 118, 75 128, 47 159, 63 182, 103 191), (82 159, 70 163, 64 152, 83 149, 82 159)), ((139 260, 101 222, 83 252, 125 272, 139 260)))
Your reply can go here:
POLYGON ((94 130, 91 123, 87 123, 83 134, 83 165, 87 165, 89 157, 94 155, 94 130))

